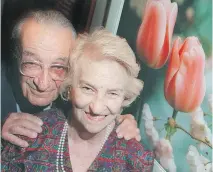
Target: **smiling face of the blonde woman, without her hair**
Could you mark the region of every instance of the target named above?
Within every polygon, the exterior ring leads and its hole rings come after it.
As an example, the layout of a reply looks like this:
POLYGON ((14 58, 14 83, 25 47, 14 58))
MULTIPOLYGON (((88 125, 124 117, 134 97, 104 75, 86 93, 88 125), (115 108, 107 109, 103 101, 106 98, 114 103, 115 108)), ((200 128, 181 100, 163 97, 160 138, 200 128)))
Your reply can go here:
POLYGON ((90 133, 98 133, 121 113, 128 75, 115 61, 79 62, 71 90, 74 118, 90 133))

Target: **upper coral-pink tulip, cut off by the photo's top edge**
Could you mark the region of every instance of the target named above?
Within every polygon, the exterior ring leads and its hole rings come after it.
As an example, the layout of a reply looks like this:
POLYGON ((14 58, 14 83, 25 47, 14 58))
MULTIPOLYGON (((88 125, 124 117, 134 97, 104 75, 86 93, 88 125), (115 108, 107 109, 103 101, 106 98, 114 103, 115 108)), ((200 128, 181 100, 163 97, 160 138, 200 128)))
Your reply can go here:
POLYGON ((149 67, 161 68, 167 61, 177 4, 170 0, 149 0, 137 36, 137 51, 149 67))

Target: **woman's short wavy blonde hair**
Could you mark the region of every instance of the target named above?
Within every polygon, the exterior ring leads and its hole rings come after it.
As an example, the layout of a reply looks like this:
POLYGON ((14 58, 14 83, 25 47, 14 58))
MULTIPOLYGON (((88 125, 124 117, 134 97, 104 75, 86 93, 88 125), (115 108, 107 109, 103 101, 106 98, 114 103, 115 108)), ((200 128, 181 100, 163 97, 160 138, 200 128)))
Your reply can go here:
MULTIPOLYGON (((130 82, 126 90, 126 99, 131 102, 140 94, 143 82, 137 79, 140 66, 136 62, 136 57, 126 39, 113 35, 105 29, 95 30, 91 34, 81 34, 78 36, 76 46, 70 56, 70 73, 61 86, 61 94, 72 86, 73 78, 78 69, 78 61, 85 58, 85 52, 98 52, 100 56, 88 57, 93 60, 110 59, 119 63, 125 68, 129 75, 130 82)), ((130 102, 130 103, 131 103, 130 102)))

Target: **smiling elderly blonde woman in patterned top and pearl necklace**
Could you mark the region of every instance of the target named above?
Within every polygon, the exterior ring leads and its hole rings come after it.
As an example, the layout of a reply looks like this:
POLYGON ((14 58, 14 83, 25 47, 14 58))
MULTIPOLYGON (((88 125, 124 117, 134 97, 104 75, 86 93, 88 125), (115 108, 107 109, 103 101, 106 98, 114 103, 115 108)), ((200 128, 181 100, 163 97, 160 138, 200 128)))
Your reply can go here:
POLYGON ((116 137, 116 116, 143 87, 126 40, 103 29, 81 35, 70 67, 61 88, 73 106, 68 119, 57 109, 42 112, 43 132, 28 148, 6 146, 3 171, 152 171, 152 152, 116 137))

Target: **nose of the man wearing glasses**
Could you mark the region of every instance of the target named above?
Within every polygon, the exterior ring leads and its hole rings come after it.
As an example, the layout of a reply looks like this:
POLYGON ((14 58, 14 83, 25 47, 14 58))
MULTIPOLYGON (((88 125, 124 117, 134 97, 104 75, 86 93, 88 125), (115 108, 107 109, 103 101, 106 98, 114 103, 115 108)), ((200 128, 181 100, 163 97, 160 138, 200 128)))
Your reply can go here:
POLYGON ((49 75, 48 69, 44 69, 40 75, 34 78, 34 84, 39 91, 46 91, 50 85, 51 77, 49 75))

